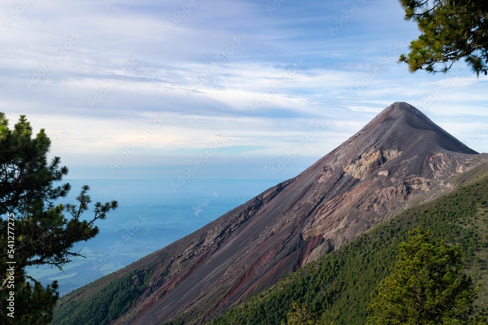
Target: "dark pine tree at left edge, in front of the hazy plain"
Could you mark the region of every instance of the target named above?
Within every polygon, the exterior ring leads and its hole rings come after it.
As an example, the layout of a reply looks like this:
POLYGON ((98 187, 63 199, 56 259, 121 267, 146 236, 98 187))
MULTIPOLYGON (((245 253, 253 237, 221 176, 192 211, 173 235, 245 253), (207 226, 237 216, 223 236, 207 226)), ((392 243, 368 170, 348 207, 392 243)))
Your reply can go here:
POLYGON ((117 201, 97 202, 94 216, 82 220, 91 203, 88 186, 77 197, 79 205, 55 205, 71 189, 69 183, 55 186, 68 169, 60 167, 59 157, 48 162, 51 141, 44 129, 32 135, 25 115, 10 130, 0 112, 0 324, 48 324, 58 284, 43 287, 25 274, 25 268, 50 265, 62 270, 73 257, 81 256, 71 251, 73 245, 97 235, 94 223, 117 208, 117 201), (8 309, 12 304, 13 314, 8 309))

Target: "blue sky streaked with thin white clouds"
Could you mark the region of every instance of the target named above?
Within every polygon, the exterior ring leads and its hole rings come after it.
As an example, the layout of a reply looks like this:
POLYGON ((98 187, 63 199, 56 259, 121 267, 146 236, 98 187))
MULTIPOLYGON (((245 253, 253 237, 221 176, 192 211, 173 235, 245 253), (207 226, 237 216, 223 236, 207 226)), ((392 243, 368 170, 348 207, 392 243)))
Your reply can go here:
POLYGON ((294 177, 395 101, 488 152, 487 80, 398 64, 395 0, 2 0, 0 111, 67 178, 294 177))

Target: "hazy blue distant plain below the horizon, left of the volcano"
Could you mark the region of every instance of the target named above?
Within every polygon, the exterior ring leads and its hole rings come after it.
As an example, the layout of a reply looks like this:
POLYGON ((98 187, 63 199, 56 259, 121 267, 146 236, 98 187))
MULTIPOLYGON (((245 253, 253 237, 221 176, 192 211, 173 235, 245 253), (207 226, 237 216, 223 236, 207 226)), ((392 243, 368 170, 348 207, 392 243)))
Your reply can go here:
POLYGON ((58 280, 64 295, 162 249, 281 181, 190 179, 174 191, 172 179, 66 180, 72 189, 61 203, 76 203, 81 186, 88 185, 92 204, 117 200, 119 208, 97 223, 99 235, 73 248, 86 258, 76 258, 64 273, 40 267, 28 274, 43 284, 58 280))

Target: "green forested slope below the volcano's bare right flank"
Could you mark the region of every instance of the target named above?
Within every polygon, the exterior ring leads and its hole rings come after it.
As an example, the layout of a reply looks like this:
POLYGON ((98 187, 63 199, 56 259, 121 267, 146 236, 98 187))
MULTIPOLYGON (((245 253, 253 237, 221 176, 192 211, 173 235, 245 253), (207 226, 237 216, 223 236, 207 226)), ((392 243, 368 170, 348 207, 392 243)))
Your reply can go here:
POLYGON ((363 325, 370 293, 393 267, 398 244, 416 227, 430 230, 447 243, 461 245, 466 272, 474 283, 483 285, 477 305, 487 306, 488 172, 483 172, 469 184, 366 231, 209 323, 280 324, 292 303, 297 302, 308 305, 309 311, 323 321, 363 325))

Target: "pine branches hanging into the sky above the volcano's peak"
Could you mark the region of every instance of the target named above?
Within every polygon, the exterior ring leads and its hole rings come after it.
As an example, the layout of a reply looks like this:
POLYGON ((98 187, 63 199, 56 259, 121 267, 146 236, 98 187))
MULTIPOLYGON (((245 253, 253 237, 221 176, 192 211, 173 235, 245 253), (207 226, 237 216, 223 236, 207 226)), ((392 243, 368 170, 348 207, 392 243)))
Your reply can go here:
POLYGON ((401 55, 410 72, 446 73, 462 58, 479 76, 488 74, 488 2, 486 0, 400 0, 405 19, 421 35, 401 55))

